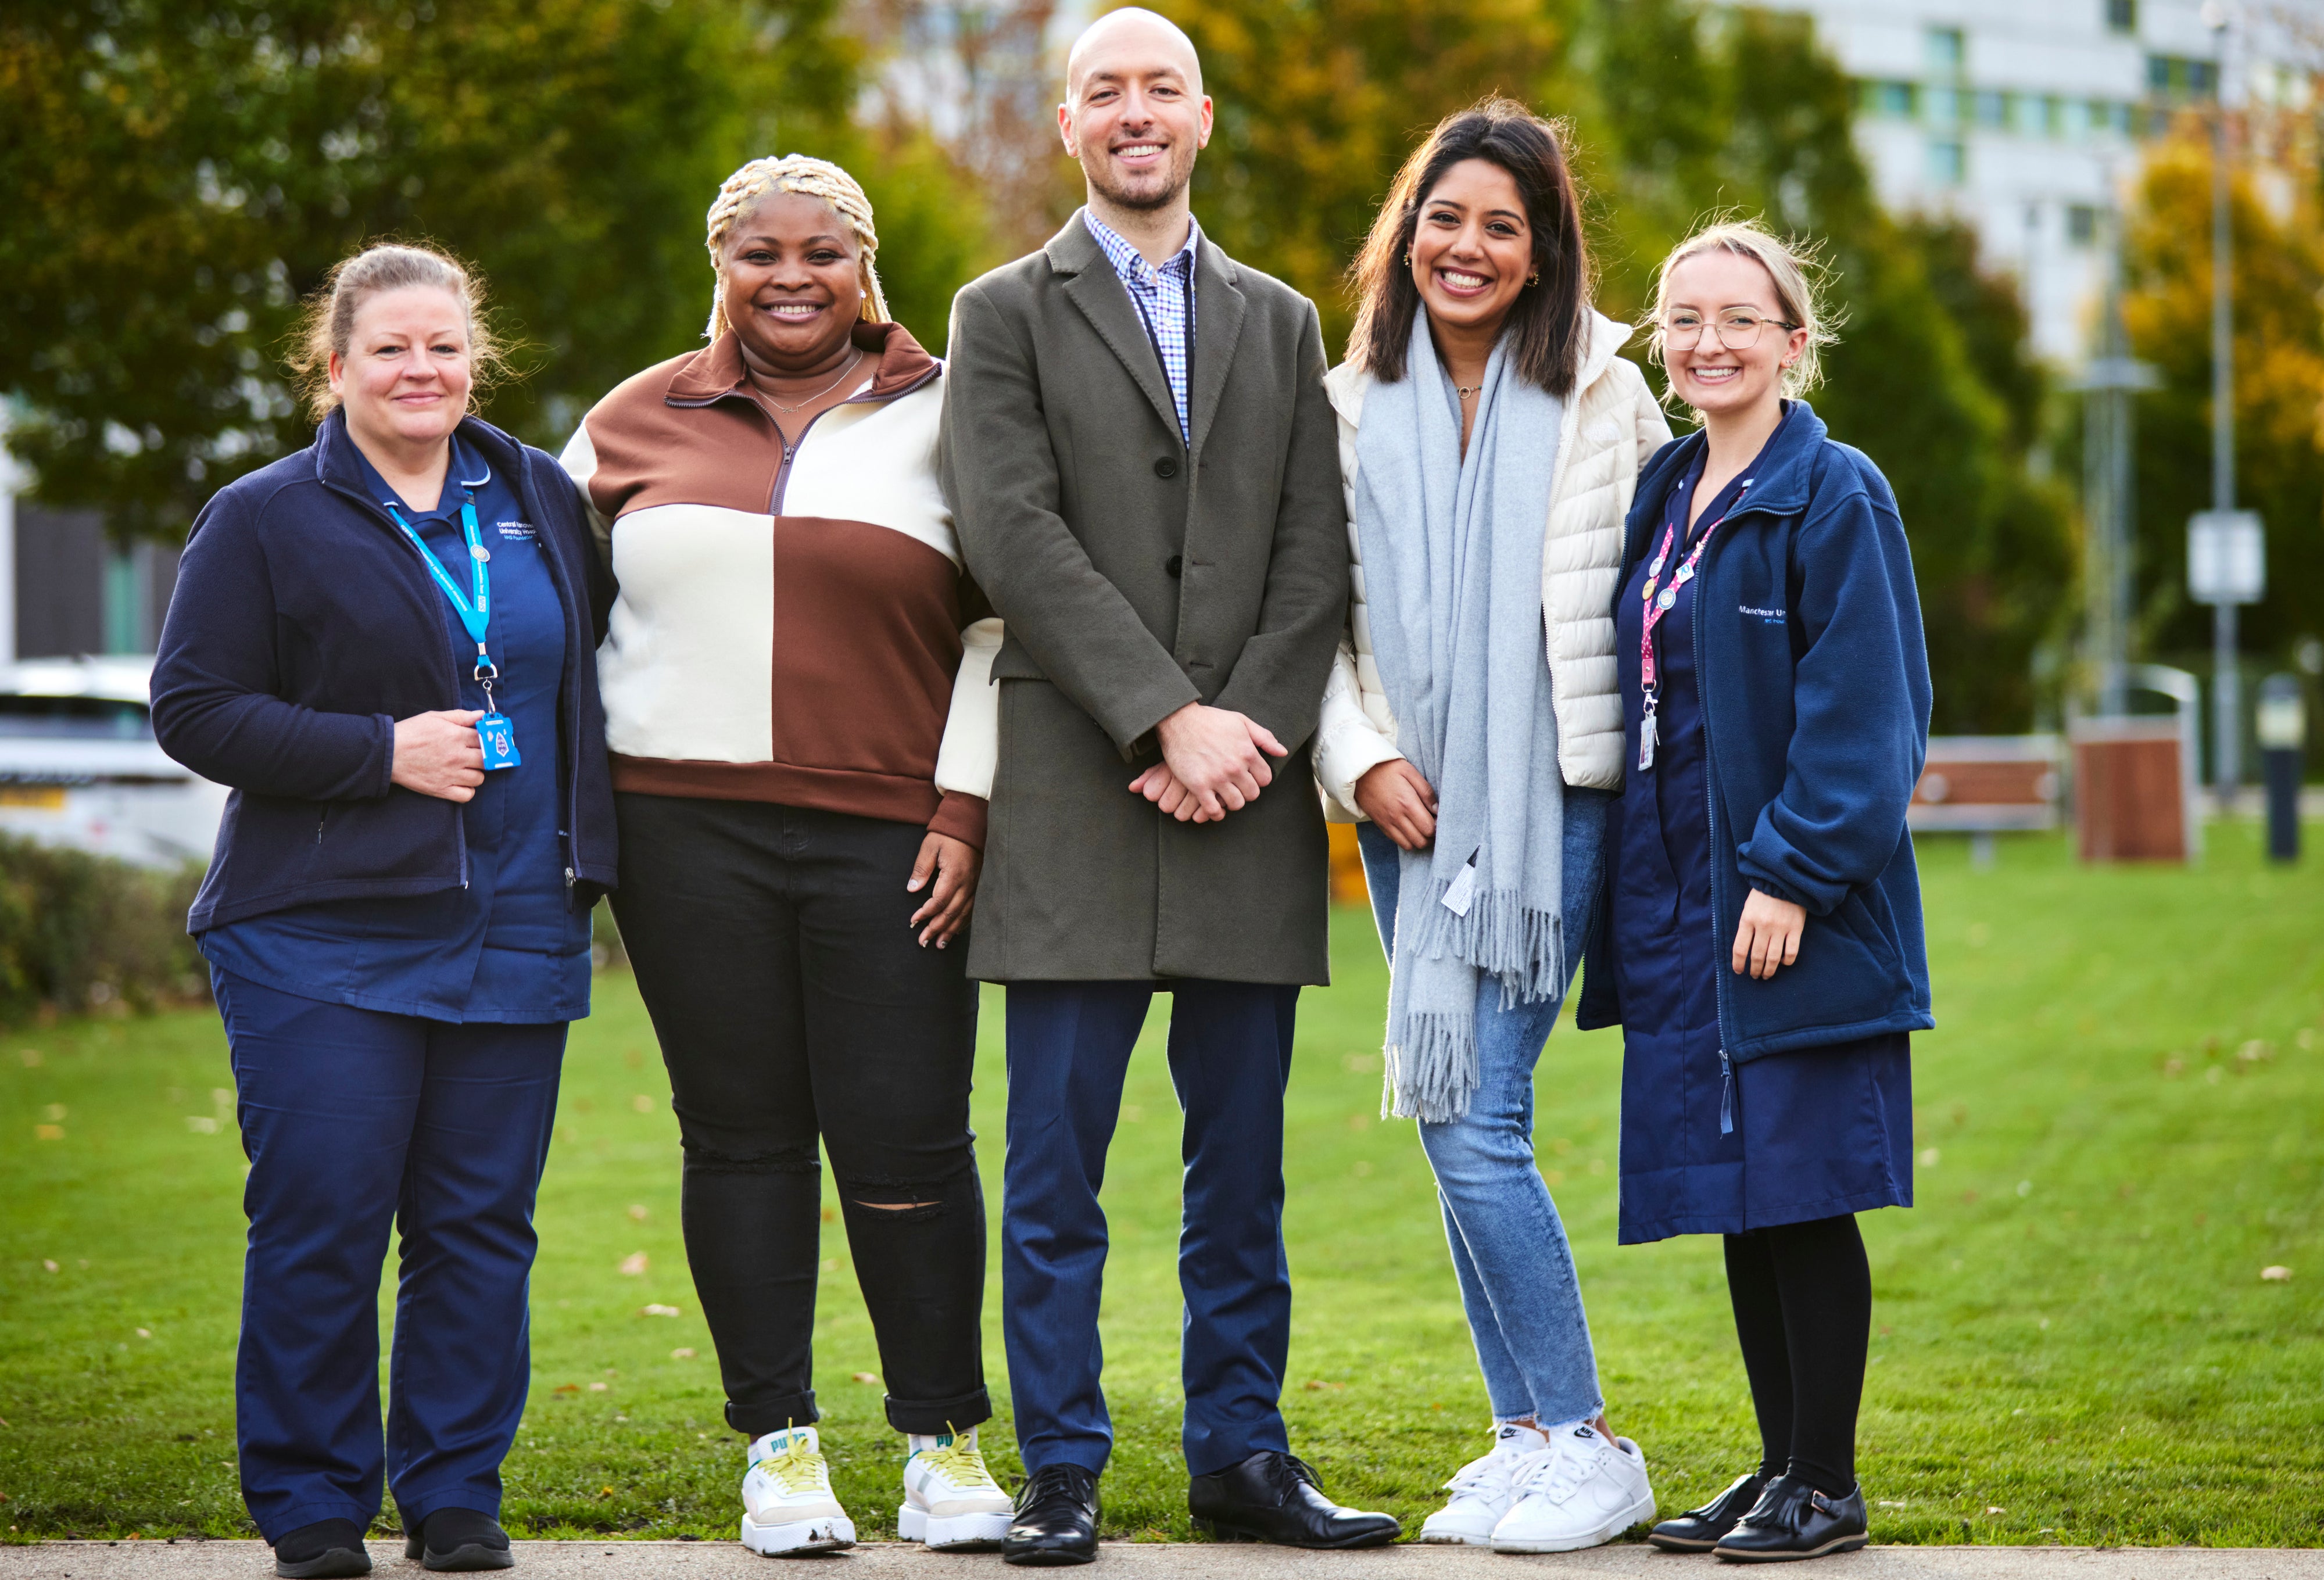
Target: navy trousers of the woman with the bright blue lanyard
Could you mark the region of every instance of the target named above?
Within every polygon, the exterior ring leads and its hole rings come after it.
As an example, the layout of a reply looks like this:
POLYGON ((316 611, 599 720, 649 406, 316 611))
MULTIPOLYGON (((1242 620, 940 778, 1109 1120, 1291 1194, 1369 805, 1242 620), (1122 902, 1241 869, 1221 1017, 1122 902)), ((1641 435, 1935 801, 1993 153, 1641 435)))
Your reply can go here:
POLYGON ((532 1371, 532 1192, 565 1022, 449 1025, 300 999, 214 969, 251 1176, 235 1355, 242 1501, 272 1543, 500 1515, 532 1371), (402 1231, 386 1441, 379 1271, 402 1231))

